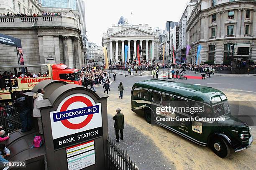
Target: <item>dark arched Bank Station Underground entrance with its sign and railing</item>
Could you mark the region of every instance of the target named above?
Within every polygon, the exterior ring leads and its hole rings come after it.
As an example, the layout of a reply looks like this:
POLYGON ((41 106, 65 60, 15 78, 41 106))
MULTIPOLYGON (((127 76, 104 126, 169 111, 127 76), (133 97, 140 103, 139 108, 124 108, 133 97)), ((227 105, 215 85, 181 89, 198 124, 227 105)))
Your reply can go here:
MULTIPOLYGON (((27 170, 136 170, 127 153, 108 138, 108 111, 105 94, 63 81, 45 80, 24 93, 33 110, 33 95, 44 89, 36 101, 41 112, 43 134, 33 118, 33 129, 16 130, 5 140, 11 154, 8 161, 26 162, 27 170), (41 147, 33 147, 41 136, 41 147), (41 142, 42 143, 42 142, 41 142)), ((31 113, 32 115, 32 113, 31 113)))

